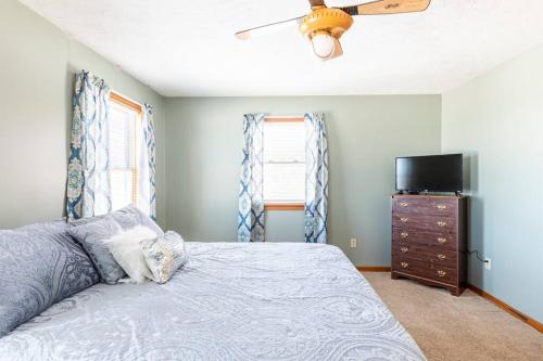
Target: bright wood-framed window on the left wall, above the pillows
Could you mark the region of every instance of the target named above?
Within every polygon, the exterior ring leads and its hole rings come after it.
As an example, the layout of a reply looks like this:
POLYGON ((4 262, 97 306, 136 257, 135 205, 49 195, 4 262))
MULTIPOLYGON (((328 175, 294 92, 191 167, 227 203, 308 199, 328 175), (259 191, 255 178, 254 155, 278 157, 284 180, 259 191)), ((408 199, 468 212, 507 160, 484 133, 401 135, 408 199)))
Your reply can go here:
POLYGON ((111 93, 110 171, 112 210, 136 205, 141 106, 111 93))

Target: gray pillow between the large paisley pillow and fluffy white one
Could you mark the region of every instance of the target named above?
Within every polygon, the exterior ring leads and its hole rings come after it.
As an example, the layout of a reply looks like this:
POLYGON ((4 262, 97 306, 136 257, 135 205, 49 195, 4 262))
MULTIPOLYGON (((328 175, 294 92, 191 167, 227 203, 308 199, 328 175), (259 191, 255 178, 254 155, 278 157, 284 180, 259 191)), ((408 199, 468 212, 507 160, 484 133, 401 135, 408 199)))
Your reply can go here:
POLYGON ((105 244, 105 240, 122 231, 121 224, 109 217, 70 229, 70 234, 87 250, 100 279, 108 284, 115 284, 125 276, 125 271, 113 258, 110 247, 105 244))

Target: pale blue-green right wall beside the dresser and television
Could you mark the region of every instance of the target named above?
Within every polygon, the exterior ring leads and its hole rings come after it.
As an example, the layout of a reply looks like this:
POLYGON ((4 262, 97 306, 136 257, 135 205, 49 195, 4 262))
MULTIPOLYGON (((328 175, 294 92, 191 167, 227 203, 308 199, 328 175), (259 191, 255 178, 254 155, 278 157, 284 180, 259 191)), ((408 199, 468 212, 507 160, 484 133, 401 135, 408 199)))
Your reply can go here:
POLYGON ((468 157, 469 281, 543 322, 543 47, 443 94, 444 152, 468 157))

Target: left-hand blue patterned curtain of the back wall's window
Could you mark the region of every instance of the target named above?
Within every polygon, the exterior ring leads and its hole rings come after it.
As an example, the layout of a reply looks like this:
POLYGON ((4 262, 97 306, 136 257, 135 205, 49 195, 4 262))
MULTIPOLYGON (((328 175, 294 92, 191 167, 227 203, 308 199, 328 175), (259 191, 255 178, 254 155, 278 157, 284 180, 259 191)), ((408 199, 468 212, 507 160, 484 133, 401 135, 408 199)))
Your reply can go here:
POLYGON ((264 242, 263 123, 264 114, 247 114, 243 118, 238 242, 264 242))

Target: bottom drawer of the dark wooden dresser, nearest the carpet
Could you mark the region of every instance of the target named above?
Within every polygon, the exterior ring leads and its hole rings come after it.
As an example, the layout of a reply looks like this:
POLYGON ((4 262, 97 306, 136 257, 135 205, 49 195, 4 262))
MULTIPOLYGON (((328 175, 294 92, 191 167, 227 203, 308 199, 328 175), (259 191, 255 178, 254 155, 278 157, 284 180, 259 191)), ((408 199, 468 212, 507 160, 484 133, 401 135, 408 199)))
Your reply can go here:
POLYGON ((399 255, 392 256, 392 271, 450 284, 454 284, 457 281, 456 270, 453 268, 428 263, 399 255))

